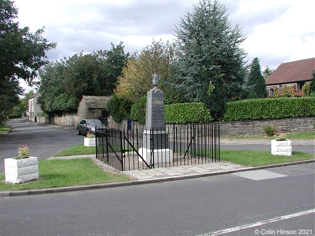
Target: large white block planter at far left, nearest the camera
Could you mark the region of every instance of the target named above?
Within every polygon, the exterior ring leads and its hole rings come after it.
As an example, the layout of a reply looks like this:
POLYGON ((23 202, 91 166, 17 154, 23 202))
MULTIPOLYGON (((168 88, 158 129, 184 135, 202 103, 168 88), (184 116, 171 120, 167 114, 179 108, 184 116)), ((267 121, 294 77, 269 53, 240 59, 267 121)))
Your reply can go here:
POLYGON ((31 156, 25 159, 4 159, 5 182, 24 183, 38 179, 38 159, 31 156))

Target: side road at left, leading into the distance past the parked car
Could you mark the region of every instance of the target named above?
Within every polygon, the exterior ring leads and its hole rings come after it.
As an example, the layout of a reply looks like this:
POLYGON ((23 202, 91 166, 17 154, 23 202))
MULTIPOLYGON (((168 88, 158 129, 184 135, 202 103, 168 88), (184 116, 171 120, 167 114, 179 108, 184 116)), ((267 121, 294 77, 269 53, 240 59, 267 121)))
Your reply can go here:
POLYGON ((27 119, 13 119, 6 124, 11 127, 11 132, 0 139, 0 173, 4 172, 4 158, 16 156, 19 145, 27 144, 33 150, 32 156, 44 160, 60 150, 83 144, 84 136, 77 135, 74 126, 51 127, 27 119))

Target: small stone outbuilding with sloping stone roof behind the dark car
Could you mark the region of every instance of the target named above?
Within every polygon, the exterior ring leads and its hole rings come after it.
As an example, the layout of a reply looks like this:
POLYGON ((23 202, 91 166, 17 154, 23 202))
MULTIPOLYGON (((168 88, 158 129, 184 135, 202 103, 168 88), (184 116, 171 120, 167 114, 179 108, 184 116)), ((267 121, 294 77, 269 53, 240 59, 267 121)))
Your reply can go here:
POLYGON ((83 95, 78 106, 78 120, 101 119, 107 120, 107 102, 111 96, 86 96, 83 95))

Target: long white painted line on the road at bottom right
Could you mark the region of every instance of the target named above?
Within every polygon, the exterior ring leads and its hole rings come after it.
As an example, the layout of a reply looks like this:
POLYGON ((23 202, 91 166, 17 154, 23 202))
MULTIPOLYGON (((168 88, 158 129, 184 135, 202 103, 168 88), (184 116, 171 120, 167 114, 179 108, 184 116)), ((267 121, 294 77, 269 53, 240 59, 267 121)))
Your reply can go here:
POLYGON ((276 218, 272 218, 272 219, 268 219, 268 220, 259 221, 259 222, 248 224, 248 225, 241 225, 241 226, 237 226, 237 227, 233 227, 233 228, 229 228, 229 229, 225 229, 225 230, 219 230, 219 231, 215 231, 215 232, 211 232, 211 233, 207 233, 207 234, 203 234, 203 235, 197 235, 197 236, 216 236, 216 235, 227 234, 227 233, 231 233, 234 231, 239 231, 239 230, 244 230, 244 229, 248 229, 248 228, 252 228, 252 227, 257 227, 260 225, 265 225, 265 224, 269 224, 269 223, 280 221, 280 220, 290 219, 293 217, 298 217, 301 215, 306 215, 306 214, 310 214, 310 213, 314 213, 314 212, 315 212, 315 209, 305 210, 305 211, 301 211, 301 212, 297 212, 297 213, 293 213, 293 214, 289 214, 289 215, 284 215, 284 216, 280 216, 280 217, 276 217, 276 218))

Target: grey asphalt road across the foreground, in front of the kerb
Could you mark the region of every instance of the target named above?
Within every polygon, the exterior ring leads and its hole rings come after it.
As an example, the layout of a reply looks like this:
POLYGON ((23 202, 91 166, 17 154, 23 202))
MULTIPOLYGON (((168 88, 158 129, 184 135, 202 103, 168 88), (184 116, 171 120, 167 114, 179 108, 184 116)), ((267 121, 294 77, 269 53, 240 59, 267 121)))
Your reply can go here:
POLYGON ((0 235, 314 235, 314 167, 2 197, 0 235))

